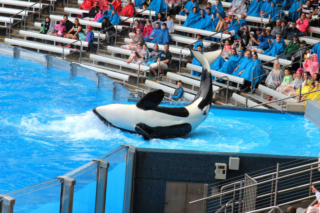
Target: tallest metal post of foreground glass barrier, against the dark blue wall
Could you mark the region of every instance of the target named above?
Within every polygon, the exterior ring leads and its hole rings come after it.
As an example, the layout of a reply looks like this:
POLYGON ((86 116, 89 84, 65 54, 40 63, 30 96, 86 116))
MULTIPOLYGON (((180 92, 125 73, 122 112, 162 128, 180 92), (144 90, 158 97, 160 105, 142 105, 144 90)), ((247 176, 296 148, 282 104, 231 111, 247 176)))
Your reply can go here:
POLYGON ((132 195, 133 195, 133 180, 134 180, 134 167, 136 159, 137 148, 132 145, 123 144, 121 146, 129 147, 127 153, 127 165, 125 172, 125 183, 124 183, 124 202, 123 212, 132 211, 132 195))

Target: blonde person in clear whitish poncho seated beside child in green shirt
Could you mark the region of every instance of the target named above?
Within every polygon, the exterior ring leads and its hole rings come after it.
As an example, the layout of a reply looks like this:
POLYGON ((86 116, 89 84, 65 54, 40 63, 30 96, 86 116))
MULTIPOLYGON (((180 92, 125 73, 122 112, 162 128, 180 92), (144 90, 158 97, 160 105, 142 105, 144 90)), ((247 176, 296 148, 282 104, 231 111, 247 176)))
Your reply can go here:
POLYGON ((268 88, 276 90, 277 87, 280 87, 284 76, 286 76, 285 71, 283 69, 280 69, 280 63, 279 61, 276 61, 273 64, 273 70, 271 70, 271 72, 268 74, 265 83, 268 84, 268 88))

